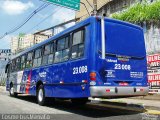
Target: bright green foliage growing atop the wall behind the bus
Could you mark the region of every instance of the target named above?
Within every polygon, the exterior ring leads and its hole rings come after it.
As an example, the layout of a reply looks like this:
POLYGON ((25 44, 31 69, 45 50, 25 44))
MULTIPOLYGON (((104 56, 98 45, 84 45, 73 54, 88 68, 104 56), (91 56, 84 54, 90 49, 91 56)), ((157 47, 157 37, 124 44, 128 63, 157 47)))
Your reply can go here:
POLYGON ((112 14, 111 17, 132 23, 159 21, 160 0, 153 3, 144 1, 142 3, 134 4, 122 12, 112 14))

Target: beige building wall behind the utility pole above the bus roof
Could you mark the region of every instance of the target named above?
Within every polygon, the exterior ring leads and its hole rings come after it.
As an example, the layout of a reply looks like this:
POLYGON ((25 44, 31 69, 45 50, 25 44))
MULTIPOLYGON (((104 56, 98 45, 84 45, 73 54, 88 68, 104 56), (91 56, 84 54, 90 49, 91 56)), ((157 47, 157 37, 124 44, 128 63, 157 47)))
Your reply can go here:
MULTIPOLYGON (((107 16, 117 11, 121 11, 126 9, 137 0, 97 0, 97 14, 101 15, 102 11, 105 12, 107 16)), ((90 13, 93 13, 93 8, 89 5, 89 3, 93 6, 93 0, 81 0, 82 3, 86 5, 87 10, 90 13)), ((87 13, 85 6, 81 4, 80 11, 76 12, 76 18, 80 18, 81 20, 86 19, 89 15, 87 13)))

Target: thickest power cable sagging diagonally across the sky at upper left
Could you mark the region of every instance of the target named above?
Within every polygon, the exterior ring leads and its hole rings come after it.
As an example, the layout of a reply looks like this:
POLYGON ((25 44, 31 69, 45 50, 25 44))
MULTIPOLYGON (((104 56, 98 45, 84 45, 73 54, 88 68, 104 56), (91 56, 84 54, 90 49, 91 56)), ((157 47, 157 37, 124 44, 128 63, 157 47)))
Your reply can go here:
POLYGON ((4 38, 4 37, 7 36, 8 34, 11 34, 11 33, 15 32, 15 31, 17 31, 18 29, 20 29, 20 28, 21 28, 23 25, 25 25, 35 14, 37 14, 39 11, 43 10, 44 8, 46 8, 48 5, 49 5, 49 3, 45 3, 45 4, 41 5, 40 7, 38 7, 36 10, 34 10, 34 11, 27 17, 27 19, 26 19, 24 22, 22 22, 19 26, 13 28, 12 30, 4 33, 4 35, 2 35, 2 36, 0 37, 0 39, 4 38))

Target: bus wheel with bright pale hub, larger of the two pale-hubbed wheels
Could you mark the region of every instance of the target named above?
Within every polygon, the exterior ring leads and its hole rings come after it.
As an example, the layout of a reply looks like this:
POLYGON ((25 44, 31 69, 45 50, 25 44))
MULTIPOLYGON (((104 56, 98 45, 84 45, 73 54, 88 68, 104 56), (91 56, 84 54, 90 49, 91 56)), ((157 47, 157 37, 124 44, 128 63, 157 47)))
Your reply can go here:
POLYGON ((44 86, 40 85, 38 87, 38 91, 37 91, 37 101, 39 105, 45 105, 46 102, 46 98, 45 98, 45 91, 44 91, 44 86))

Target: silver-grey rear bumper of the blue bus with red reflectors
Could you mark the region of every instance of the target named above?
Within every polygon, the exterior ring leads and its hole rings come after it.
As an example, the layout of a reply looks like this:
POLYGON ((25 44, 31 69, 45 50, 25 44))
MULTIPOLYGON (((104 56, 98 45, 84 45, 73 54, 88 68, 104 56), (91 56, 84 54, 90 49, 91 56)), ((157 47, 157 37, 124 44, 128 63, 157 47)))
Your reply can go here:
POLYGON ((111 97, 111 96, 143 96, 147 95, 149 87, 109 87, 91 86, 91 97, 111 97))

